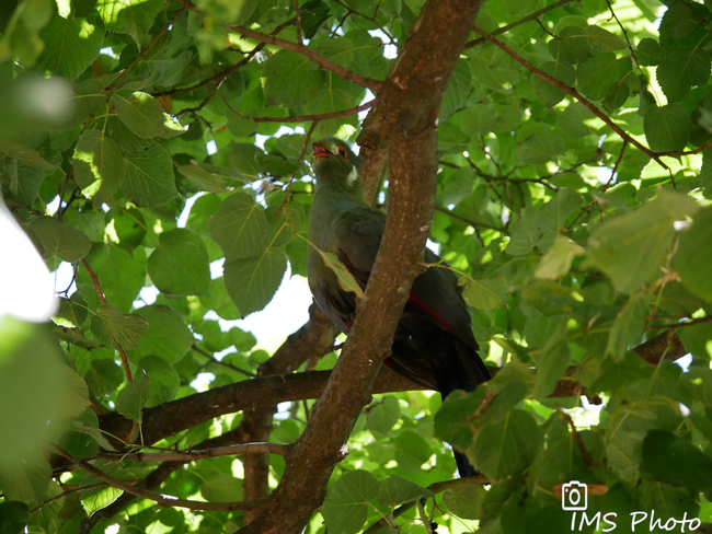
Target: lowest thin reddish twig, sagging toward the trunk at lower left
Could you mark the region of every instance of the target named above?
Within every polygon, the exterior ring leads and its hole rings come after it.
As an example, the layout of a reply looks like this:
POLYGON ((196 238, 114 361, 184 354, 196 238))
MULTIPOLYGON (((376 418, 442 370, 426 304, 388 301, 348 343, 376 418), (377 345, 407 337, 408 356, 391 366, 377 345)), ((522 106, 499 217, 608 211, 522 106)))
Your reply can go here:
POLYGON ((127 494, 135 495, 136 497, 150 499, 165 507, 187 508, 190 510, 233 512, 236 510, 254 510, 254 509, 265 508, 272 501, 272 497, 263 497, 261 499, 252 499, 248 501, 236 501, 236 502, 200 502, 200 501, 194 501, 190 499, 179 499, 177 497, 172 497, 170 495, 157 494, 156 491, 150 491, 148 489, 137 488, 135 486, 131 486, 129 483, 119 480, 118 478, 114 478, 113 476, 107 475, 103 471, 97 469, 93 465, 89 464, 85 460, 77 462, 71 454, 69 454, 66 451, 62 451, 58 446, 53 446, 53 450, 55 453, 77 464, 81 469, 85 471, 90 475, 95 476, 100 480, 104 480, 113 488, 120 489, 123 491, 126 491, 127 494))

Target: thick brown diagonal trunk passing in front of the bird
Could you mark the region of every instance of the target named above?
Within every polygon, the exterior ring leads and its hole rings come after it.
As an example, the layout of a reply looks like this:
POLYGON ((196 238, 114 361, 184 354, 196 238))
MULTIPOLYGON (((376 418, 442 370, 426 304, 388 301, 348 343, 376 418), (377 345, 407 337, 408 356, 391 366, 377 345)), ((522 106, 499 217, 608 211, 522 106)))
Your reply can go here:
POLYGON ((383 84, 388 96, 377 109, 387 120, 371 134, 391 139, 391 202, 366 299, 357 305, 351 338, 295 444, 272 504, 245 533, 302 531, 323 501, 344 443, 370 398, 422 262, 437 182, 437 109, 479 7, 478 1, 429 0, 383 84))

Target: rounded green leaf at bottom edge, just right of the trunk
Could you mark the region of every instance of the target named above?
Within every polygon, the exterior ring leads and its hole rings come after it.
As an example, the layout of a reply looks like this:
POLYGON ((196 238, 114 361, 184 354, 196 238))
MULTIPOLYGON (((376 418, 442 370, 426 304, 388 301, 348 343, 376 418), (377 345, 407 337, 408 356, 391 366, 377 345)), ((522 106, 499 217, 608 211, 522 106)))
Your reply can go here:
POLYGON ((379 483, 365 471, 345 473, 329 489, 321 514, 330 532, 356 534, 368 516, 368 502, 378 496, 379 483))

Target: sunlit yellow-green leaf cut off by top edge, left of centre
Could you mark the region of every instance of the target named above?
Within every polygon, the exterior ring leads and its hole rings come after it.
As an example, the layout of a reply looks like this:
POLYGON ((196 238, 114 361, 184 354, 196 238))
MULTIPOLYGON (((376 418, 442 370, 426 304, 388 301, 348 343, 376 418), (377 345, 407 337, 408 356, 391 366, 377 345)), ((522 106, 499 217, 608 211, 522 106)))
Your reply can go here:
POLYGON ((99 0, 96 11, 106 30, 130 35, 140 47, 163 5, 165 0, 99 0))

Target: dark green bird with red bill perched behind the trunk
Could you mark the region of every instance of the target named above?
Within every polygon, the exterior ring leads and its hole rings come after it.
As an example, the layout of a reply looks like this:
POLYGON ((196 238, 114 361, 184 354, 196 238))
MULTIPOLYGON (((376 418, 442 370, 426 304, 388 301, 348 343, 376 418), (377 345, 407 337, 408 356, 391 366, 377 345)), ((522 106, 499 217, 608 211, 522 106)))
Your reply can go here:
MULTIPOLYGON (((319 307, 348 335, 356 317, 356 293, 344 290, 322 253, 335 255, 366 288, 380 246, 386 213, 366 200, 361 162, 348 143, 325 137, 312 144, 315 186, 309 214, 307 278, 319 307)), ((412 382, 440 392, 473 391, 490 380, 472 333, 462 287, 447 264, 429 248, 429 265, 413 281, 384 365, 412 382)), ((475 474, 467 456, 455 451, 461 477, 475 474)))

